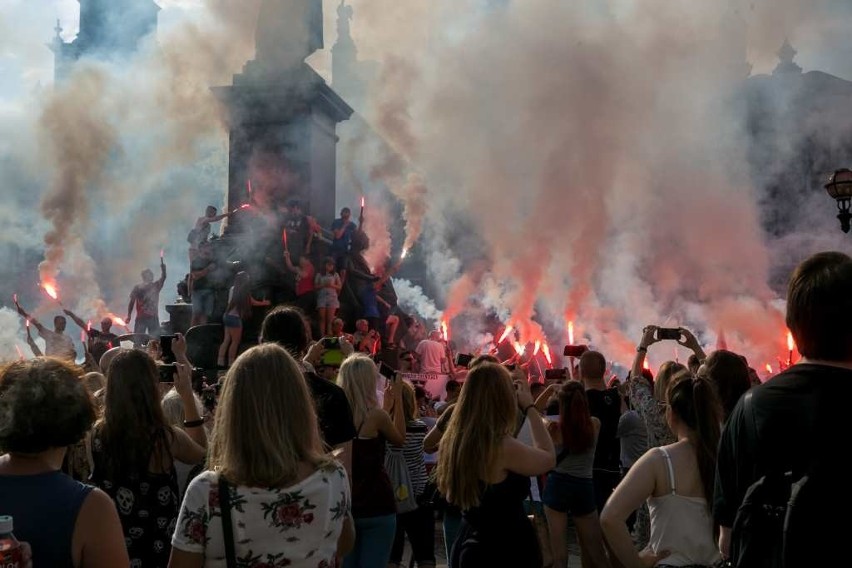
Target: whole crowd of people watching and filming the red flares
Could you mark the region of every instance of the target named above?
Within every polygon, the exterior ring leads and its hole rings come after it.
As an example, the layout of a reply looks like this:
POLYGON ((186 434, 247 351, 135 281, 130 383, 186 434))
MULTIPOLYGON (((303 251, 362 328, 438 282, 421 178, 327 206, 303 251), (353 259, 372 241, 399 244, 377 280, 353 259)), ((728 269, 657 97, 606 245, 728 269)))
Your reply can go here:
MULTIPOLYGON (((329 298, 352 275, 338 266, 332 257, 315 276, 329 298)), ((380 372, 384 338, 367 318, 347 334, 326 312, 314 341, 305 312, 278 305, 259 345, 238 348, 251 307, 269 302, 250 283, 237 274, 219 351, 227 370, 213 384, 194 374, 180 334, 164 362, 157 344, 110 347, 107 319, 90 330, 107 349, 79 366, 64 317, 48 330, 19 307, 47 348, 0 370, 0 515, 14 519, 29 563, 385 568, 401 565, 408 540, 412 563, 432 567, 443 540, 452 568, 564 568, 569 526, 588 567, 844 561, 846 525, 824 507, 852 499, 842 468, 827 466, 852 380, 846 255, 815 255, 793 273, 787 325, 802 360, 765 384, 745 357, 706 354, 686 329, 674 339, 646 327, 624 381, 608 381, 606 357, 586 351, 576 378, 544 382, 493 355, 456 368, 438 332, 399 366, 463 378, 441 401, 380 372), (666 340, 694 356, 652 374, 645 357, 666 340), (784 495, 783 532, 755 529, 760 499, 784 479, 804 497, 784 495)), ((148 273, 141 286, 137 321, 149 313, 144 287, 162 282, 148 273)))

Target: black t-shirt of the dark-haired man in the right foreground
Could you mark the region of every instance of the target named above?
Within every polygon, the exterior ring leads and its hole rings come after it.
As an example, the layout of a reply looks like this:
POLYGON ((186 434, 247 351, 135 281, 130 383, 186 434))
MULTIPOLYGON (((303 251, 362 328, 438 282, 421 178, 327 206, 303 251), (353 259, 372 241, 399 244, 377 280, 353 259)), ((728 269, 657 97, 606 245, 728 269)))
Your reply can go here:
MULTIPOLYGON (((807 473, 811 452, 827 448, 833 469, 843 461, 848 418, 844 410, 852 387, 852 371, 826 365, 794 365, 769 382, 752 389, 757 448, 751 443, 743 399, 731 413, 722 440, 716 469, 713 513, 716 522, 730 527, 746 490, 769 472, 793 472, 793 479, 807 473), (823 390, 824 389, 824 390, 823 390), (817 411, 818 395, 826 393, 817 411), (834 396, 832 396, 832 393, 834 396), (817 417, 822 423, 817 426, 817 417), (819 428, 819 431, 816 431, 819 428)), ((849 502, 852 485, 837 484, 838 502, 849 502)), ((848 511, 840 511, 845 515, 848 511)))

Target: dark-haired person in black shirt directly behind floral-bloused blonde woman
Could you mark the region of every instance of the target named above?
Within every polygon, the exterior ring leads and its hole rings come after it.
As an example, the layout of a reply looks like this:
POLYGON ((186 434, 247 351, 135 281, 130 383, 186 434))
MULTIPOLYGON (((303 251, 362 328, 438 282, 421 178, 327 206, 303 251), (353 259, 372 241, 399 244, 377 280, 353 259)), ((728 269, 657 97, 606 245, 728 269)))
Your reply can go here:
MULTIPOLYGON (((352 439, 356 434, 352 409, 343 389, 319 377, 305 360, 308 354, 308 330, 302 312, 292 306, 275 308, 263 320, 260 340, 262 343, 277 343, 302 365, 305 381, 316 404, 323 441, 328 447, 343 450, 340 459, 351 474, 352 439)), ((311 353, 321 355, 321 346, 312 349, 311 353)))

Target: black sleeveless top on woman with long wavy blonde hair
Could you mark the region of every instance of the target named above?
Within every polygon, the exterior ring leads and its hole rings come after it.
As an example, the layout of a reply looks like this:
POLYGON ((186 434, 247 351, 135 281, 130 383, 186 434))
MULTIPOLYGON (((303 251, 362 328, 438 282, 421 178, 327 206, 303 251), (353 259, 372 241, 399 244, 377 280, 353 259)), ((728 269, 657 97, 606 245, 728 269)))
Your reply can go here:
POLYGON ((479 506, 463 513, 450 568, 540 568, 538 538, 524 511, 529 478, 509 472, 500 483, 482 485, 479 506))

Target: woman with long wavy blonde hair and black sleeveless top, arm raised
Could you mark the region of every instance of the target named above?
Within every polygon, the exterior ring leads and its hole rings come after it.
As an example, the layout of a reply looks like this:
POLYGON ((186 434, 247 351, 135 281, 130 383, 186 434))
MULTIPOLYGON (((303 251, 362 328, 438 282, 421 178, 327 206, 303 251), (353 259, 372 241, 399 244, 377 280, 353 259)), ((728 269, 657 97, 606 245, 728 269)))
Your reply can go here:
POLYGON ((529 477, 556 464, 553 442, 530 395, 502 365, 471 370, 441 439, 438 489, 463 511, 450 568, 541 566, 541 551, 524 512, 529 477), (534 446, 515 439, 518 412, 534 446))

